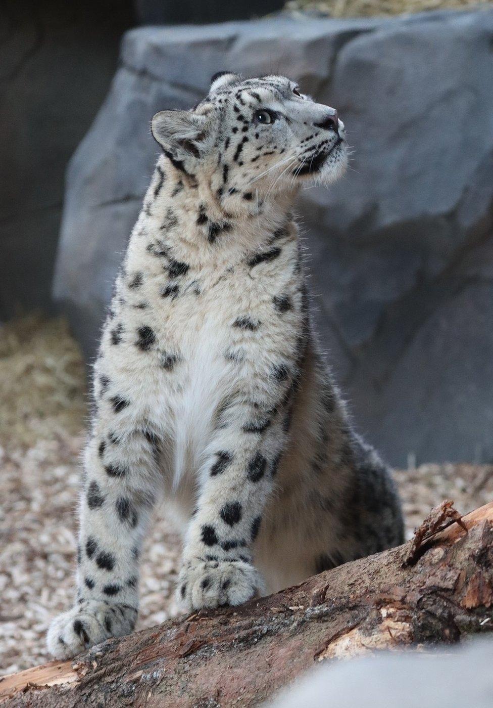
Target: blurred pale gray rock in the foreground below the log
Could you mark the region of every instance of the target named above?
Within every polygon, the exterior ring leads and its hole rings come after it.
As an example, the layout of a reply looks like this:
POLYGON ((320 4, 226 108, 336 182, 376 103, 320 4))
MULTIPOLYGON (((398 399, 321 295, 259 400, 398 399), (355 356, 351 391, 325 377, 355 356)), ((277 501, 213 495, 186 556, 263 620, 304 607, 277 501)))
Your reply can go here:
POLYGON ((489 708, 492 661, 493 641, 482 639, 446 652, 381 653, 330 663, 298 680, 269 707, 489 708))

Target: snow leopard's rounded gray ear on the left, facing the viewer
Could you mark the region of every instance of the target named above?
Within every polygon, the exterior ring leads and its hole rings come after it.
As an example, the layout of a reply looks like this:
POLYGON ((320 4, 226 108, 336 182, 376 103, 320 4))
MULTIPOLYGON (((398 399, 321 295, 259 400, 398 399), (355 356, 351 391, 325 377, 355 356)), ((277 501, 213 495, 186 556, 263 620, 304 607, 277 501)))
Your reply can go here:
POLYGON ((154 139, 164 149, 184 156, 198 156, 198 144, 204 139, 206 122, 205 115, 190 110, 160 110, 152 119, 151 130, 154 139))

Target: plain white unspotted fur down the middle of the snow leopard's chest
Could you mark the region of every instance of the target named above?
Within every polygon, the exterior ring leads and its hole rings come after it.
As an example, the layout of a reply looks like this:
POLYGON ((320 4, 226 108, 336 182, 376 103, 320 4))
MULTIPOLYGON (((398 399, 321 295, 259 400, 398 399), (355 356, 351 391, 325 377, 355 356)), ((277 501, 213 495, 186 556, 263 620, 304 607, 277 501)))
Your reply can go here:
POLYGON ((238 280, 228 273, 204 276, 168 309, 156 311, 163 343, 157 352, 158 399, 174 486, 199 472, 221 409, 240 386, 260 303, 238 280))

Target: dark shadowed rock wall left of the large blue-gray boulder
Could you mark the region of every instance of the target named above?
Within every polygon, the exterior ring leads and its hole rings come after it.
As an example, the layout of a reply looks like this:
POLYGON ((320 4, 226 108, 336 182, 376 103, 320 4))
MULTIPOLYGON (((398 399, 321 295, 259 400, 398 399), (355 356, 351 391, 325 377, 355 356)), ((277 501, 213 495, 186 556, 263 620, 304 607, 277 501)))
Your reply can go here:
POLYGON ((66 164, 132 23, 131 0, 0 4, 0 319, 50 308, 66 164))

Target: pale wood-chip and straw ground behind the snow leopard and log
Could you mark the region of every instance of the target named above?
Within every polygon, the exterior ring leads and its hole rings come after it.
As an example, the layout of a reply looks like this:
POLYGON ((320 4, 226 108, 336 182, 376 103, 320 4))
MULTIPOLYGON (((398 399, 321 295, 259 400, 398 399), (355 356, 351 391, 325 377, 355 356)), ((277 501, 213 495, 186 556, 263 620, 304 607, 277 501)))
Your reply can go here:
MULTIPOLYGON (((21 321, 18 328, 23 336, 10 333, 11 346, 0 348, 0 422, 11 423, 0 426, 0 674, 47 661, 50 618, 73 601, 84 442, 83 368, 65 326, 37 319, 21 321), (60 366, 62 353, 70 375, 60 366), (13 417, 16 399, 22 405, 13 417)), ((463 513, 493 498, 493 467, 428 464, 395 472, 395 478, 408 537, 443 498, 453 499, 463 513)), ((144 547, 138 628, 176 613, 173 586, 179 554, 178 536, 158 512, 144 547)))

